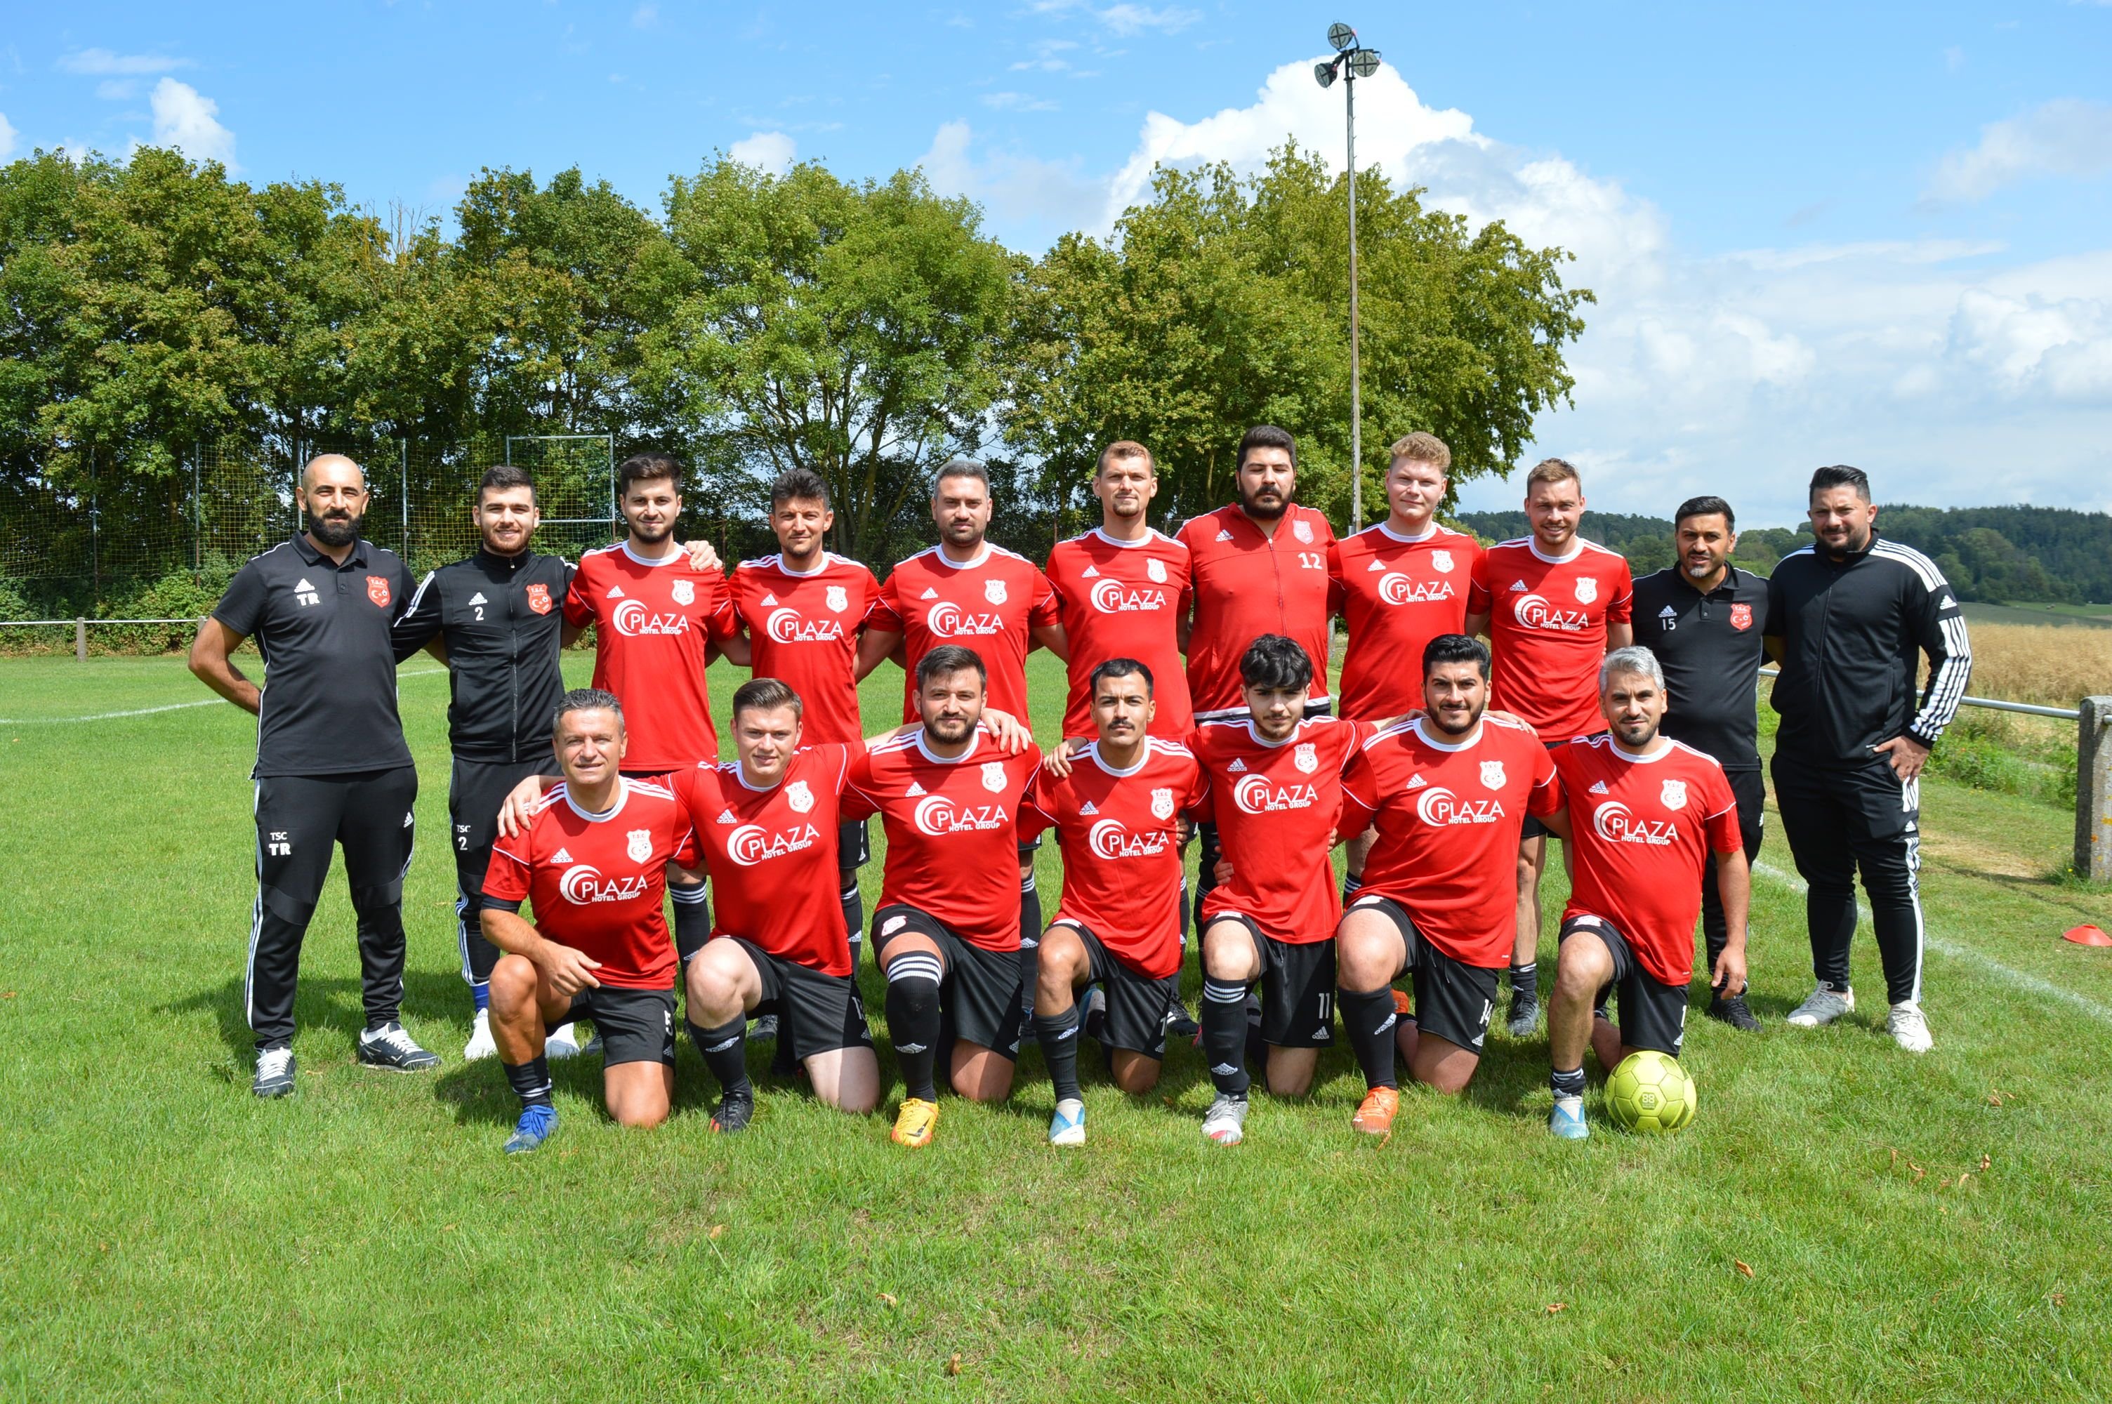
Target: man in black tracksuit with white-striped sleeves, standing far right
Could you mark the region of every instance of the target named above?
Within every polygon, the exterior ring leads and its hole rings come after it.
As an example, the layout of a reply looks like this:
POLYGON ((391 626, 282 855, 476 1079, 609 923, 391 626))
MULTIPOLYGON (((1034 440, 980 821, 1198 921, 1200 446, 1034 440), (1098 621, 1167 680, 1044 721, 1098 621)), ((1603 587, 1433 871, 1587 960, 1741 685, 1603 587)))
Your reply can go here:
POLYGON ((1783 663, 1774 798, 1810 887, 1818 978, 1789 1022, 1812 1028, 1854 1009, 1848 942, 1861 868, 1892 1005, 1886 1026, 1920 1054, 1932 1047, 1922 1016, 1920 775, 1958 714, 1973 648, 1943 572, 1878 536, 1861 469, 1818 469, 1810 505, 1818 540, 1774 568, 1766 625, 1783 663), (1928 684, 1918 692, 1920 654, 1928 684))

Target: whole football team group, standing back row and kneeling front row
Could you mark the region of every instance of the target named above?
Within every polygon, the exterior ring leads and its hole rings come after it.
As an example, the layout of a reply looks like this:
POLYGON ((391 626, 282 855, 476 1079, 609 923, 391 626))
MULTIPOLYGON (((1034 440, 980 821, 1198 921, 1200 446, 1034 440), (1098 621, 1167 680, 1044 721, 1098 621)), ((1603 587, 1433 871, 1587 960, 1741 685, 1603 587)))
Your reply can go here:
POLYGON ((1020 1096, 1031 1045, 1052 1146, 1090 1144, 1092 1102, 1147 1098, 1170 1058, 1208 1070, 1200 1134, 1238 1146, 1347 1045, 1366 1089, 1341 1134, 1383 1144, 1415 1115, 1404 1083, 1472 1085, 1491 1024, 1544 1039, 1552 1136, 1588 1138, 1595 1102, 1679 1130, 1704 1081, 1679 1062, 1690 1005, 1759 1030, 1761 705, 1808 887, 1814 984, 1785 1022, 1854 1013, 1861 878, 1873 1037, 1935 1047, 1918 777, 1973 659, 1954 591, 1884 536, 1859 469, 1810 473, 1812 540, 1768 576, 1732 564, 1732 502, 1696 496, 1675 564, 1630 578, 1580 534, 1561 458, 1523 477, 1531 534, 1495 545, 1438 519, 1451 452, 1430 433, 1392 443, 1388 515, 1345 538, 1299 502, 1290 433, 1246 429, 1231 462, 1236 500, 1168 534, 1151 450, 1107 443, 1098 526, 1037 564, 988 538, 1003 502, 955 458, 931 481, 936 545, 885 578, 828 549, 830 494, 803 469, 771 486, 779 549, 735 564, 680 540, 684 464, 636 454, 621 538, 574 564, 536 545, 534 475, 501 464, 477 551, 414 581, 363 534, 361 464, 308 460, 302 530, 234 574, 190 650, 258 714, 253 1094, 300 1087, 300 959, 334 866, 357 914, 357 1060, 448 1060, 401 1022, 403 883, 441 861, 414 842, 420 783, 441 777, 399 718, 418 654, 450 686, 460 1060, 517 1096, 507 1153, 560 1134, 562 1058, 600 1060, 610 1121, 667 1121, 682 1039, 714 1134, 811 1096, 849 1113, 845 1136, 881 1134, 879 1111, 914 1151, 950 1098, 1020 1096), (568 688, 589 629, 591 686, 568 688), (1067 669, 1060 716, 1031 716, 1033 650, 1067 669), (714 659, 748 680, 714 695, 714 659), (883 667, 902 707, 874 722, 860 682, 883 667), (1058 891, 1035 876, 1043 845, 1058 891), (771 1058, 760 1094, 752 1049, 771 1058))

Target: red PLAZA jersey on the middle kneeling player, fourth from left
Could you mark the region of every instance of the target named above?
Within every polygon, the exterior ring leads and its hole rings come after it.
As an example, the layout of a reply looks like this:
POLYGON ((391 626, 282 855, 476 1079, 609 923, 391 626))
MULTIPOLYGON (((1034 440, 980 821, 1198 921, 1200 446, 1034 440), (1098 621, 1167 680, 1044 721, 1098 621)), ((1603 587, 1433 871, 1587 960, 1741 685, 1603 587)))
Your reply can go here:
POLYGON ((1083 925, 1151 980, 1181 969, 1181 815, 1208 792, 1195 754, 1157 737, 1128 771, 1111 769, 1094 743, 1071 758, 1069 775, 1037 775, 1020 838, 1052 828, 1062 845, 1052 921, 1083 925))

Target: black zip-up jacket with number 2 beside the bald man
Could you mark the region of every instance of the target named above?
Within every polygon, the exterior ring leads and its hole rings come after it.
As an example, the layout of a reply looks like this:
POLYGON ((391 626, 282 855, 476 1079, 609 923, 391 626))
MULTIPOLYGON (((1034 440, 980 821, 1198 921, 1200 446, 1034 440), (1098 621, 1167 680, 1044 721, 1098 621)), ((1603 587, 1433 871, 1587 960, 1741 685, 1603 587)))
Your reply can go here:
POLYGON ((448 743, 463 760, 549 758, 570 583, 562 555, 477 551, 425 576, 395 621, 399 663, 435 635, 448 646, 448 743))

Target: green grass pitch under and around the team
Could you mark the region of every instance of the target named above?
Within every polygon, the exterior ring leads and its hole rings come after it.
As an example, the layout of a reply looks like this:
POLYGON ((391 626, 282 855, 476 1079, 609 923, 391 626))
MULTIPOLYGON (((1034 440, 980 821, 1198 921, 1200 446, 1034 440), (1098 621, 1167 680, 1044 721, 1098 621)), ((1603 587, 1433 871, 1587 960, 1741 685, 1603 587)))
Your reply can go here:
MULTIPOLYGON (((0 663, 0 1396, 2112 1391, 2112 954, 2057 940, 2112 925, 2112 902, 2047 880, 2070 832, 2053 807, 1924 785, 1937 1051, 1922 1060, 1882 1032, 1867 931, 1863 1009, 1783 1026, 1810 988, 1804 914, 1761 876, 1768 1028, 1696 1016, 1700 1117, 1662 1140, 1609 1127, 1597 1070, 1592 1138, 1548 1138, 1546 1037, 1497 1026, 1472 1092, 1409 1092, 1385 1146, 1347 1127, 1362 1092, 1347 1049, 1303 1102, 1257 1092, 1229 1151, 1198 1134, 1210 1085, 1176 1047, 1159 1094, 1134 1102, 1088 1051, 1083 1151, 1043 1144, 1050 1092, 1029 1054, 1010 1106, 948 1098, 938 1142, 904 1153, 881 1117, 769 1083, 754 1130, 714 1140, 684 1045, 659 1132, 608 1123, 598 1062, 581 1060, 558 1064, 558 1138, 507 1159, 505 1077, 458 1060, 446 680, 425 661, 403 671, 429 836, 406 904, 406 1022, 446 1066, 355 1064, 334 874, 306 948, 300 1094, 262 1104, 241 1013, 253 722, 182 705, 203 690, 177 659, 0 663)), ((1052 726, 1048 654, 1035 684, 1052 726)), ((898 699, 883 669, 874 728, 898 699)), ((1778 832, 1761 859, 1789 870, 1778 832)), ((866 883, 870 912, 876 861, 866 883)), ((1054 910, 1052 851, 1041 883, 1054 910)), ((1550 887, 1544 965, 1559 874, 1550 887)))

